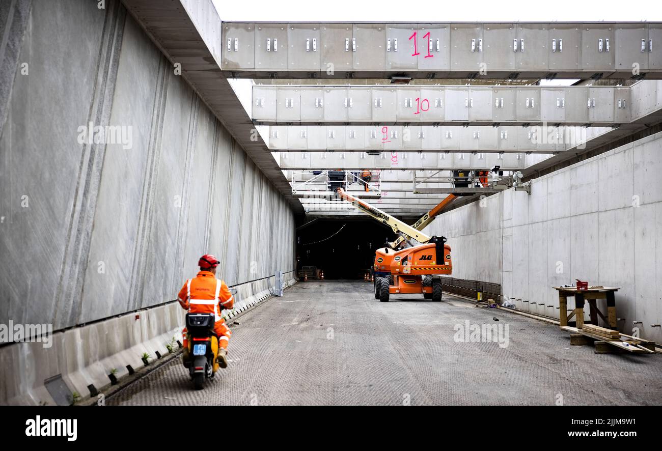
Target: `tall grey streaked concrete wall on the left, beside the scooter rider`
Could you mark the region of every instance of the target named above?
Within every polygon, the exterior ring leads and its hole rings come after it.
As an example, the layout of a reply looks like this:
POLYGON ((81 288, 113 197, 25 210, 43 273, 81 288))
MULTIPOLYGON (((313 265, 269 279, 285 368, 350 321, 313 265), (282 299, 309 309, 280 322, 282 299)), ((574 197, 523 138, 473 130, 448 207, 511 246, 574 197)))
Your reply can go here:
MULTIPOLYGON (((118 1, 13 3, 0 15, 0 72, 13 74, 0 90, 0 323, 58 330, 157 306, 207 252, 244 298, 294 270, 291 207, 118 1), (122 138, 80 144, 89 122, 122 138)), ((30 362, 27 343, 9 347, 30 362)), ((3 387, 0 403, 24 390, 3 387)))

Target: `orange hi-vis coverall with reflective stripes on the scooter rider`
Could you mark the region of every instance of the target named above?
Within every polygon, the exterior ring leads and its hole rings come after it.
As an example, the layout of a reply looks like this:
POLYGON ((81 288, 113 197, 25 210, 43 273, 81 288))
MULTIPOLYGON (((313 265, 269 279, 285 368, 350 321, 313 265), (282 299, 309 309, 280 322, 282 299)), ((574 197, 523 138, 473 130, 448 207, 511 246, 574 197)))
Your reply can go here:
MULTIPOLYGON (((225 282, 218 280, 212 272, 200 271, 195 278, 186 281, 177 297, 181 307, 189 313, 214 313, 214 333, 218 337, 218 347, 227 350, 232 332, 220 311, 224 308, 231 309, 234 306, 234 298, 225 282)), ((188 348, 186 327, 181 333, 183 346, 188 348)))

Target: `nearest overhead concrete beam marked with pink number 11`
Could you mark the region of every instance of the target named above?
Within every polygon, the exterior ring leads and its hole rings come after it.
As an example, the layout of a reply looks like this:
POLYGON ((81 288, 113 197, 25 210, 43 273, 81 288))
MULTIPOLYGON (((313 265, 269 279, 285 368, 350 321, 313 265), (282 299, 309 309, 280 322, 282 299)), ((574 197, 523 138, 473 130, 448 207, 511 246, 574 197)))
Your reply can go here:
POLYGON ((662 77, 661 22, 223 22, 248 78, 662 77))

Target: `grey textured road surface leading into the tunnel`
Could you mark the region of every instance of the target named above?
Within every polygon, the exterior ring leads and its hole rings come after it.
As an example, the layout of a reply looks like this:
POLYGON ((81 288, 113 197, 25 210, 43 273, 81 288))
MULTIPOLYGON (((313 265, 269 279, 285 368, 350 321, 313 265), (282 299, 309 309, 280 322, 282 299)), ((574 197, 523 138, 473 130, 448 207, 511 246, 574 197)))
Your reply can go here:
POLYGON ((661 355, 594 354, 591 345, 571 347, 555 325, 447 293, 443 302, 420 295, 379 302, 369 282, 301 282, 238 321, 228 368, 204 390, 193 390, 176 358, 107 403, 662 403, 661 355), (463 341, 465 321, 507 325, 507 347, 463 341))

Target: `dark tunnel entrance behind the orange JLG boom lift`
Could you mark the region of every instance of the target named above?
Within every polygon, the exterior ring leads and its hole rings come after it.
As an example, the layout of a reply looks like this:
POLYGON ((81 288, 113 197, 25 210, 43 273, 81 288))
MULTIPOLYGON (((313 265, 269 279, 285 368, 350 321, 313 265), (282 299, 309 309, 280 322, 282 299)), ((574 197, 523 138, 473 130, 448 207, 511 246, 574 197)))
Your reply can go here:
POLYGON ((375 249, 396 238, 391 227, 371 219, 317 219, 297 230, 297 270, 315 267, 325 279, 361 279, 375 249))

